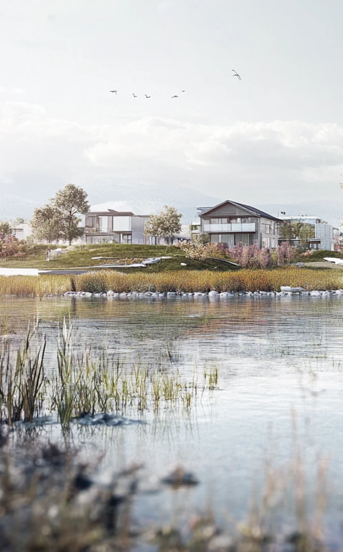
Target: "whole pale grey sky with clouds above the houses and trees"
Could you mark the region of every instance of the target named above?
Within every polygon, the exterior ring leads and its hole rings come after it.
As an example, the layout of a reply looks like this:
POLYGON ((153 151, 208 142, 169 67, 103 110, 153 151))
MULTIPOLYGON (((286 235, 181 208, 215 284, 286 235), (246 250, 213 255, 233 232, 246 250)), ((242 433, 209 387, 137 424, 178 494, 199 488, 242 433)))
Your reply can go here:
POLYGON ((340 0, 2 0, 0 217, 67 183, 137 214, 342 213, 342 23, 340 0))

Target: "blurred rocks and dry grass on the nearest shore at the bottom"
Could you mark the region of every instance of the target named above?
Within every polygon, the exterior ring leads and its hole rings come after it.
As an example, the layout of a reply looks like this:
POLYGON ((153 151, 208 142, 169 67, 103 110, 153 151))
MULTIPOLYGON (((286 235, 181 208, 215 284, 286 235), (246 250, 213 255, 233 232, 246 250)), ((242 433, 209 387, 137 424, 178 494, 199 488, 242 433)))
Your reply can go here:
MULTIPOLYGON (((132 513, 140 495, 142 465, 131 464, 97 481, 100 453, 85 463, 68 444, 46 445, 33 433, 12 444, 0 427, 0 549, 3 552, 324 552, 324 514, 328 498, 328 463, 318 459, 308 481, 304 454, 295 442, 283 466, 266 459, 261 492, 250 497, 243 518, 216 521, 211 508, 197 502, 196 512, 177 506, 188 502, 179 466, 173 475, 174 509, 158 507, 137 524, 132 513), (287 500, 286 500, 287 497, 287 500), (313 505, 313 513, 308 513, 313 505), (290 517, 291 516, 291 517, 290 517), (164 518, 164 519, 163 519, 164 518), (163 519, 163 522, 162 522, 163 519), (291 519, 291 524, 289 523, 291 519), (286 523, 285 523, 286 522, 286 523), (287 523, 288 522, 288 523, 287 523), (162 524, 163 523, 163 524, 162 524), (286 526, 286 527, 285 527, 286 526)), ((213 474, 214 475, 214 474, 213 474)), ((163 480, 157 487, 161 492, 163 480)), ((230 489, 227 489, 228 494, 230 489)), ((189 489, 189 492, 191 490, 189 489)), ((145 500, 149 501, 146 495, 145 500)), ((209 497, 207 502, 215 501, 209 497)), ((142 501, 142 496, 141 496, 142 501)), ((142 510, 142 502, 141 502, 142 510)), ((225 517, 225 516, 224 516, 225 517)), ((342 539, 340 538, 340 541, 342 539)), ((335 547, 336 550, 341 548, 335 547)))

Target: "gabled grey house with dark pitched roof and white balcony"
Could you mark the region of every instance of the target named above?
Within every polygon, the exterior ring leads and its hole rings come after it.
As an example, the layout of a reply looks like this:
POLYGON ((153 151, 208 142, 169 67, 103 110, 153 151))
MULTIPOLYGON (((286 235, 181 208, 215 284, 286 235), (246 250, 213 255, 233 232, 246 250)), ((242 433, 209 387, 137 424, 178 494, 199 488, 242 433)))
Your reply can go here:
POLYGON ((215 207, 199 207, 197 210, 200 233, 209 234, 212 243, 226 243, 228 247, 239 243, 277 247, 278 223, 282 221, 260 209, 226 200, 215 207))

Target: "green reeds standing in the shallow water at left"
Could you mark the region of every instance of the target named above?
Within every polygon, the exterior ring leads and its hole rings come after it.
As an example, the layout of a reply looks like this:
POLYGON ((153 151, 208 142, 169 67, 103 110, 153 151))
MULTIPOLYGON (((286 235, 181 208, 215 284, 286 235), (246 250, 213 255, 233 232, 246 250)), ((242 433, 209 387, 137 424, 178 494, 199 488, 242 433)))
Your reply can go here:
POLYGON ((34 346, 37 328, 30 327, 24 343, 13 354, 6 342, 0 349, 0 423, 33 422, 35 417, 53 413, 62 427, 73 418, 97 413, 128 410, 155 412, 163 405, 186 410, 197 396, 217 388, 218 370, 205 370, 199 381, 196 370, 191 381, 177 369, 166 370, 162 360, 142 365, 140 359, 127 367, 111 359, 104 347, 100 352, 76 354, 73 327, 63 321, 57 341, 56 368, 45 370, 45 341, 34 346))

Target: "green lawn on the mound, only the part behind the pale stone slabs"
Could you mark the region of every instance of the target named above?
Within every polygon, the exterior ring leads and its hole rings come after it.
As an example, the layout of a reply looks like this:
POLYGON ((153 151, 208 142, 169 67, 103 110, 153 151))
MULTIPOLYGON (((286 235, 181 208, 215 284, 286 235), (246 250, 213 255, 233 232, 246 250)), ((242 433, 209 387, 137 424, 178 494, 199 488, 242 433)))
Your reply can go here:
MULTIPOLYGON (((0 262, 1 267, 7 268, 73 268, 92 267, 103 263, 92 257, 115 257, 116 259, 146 259, 147 257, 163 257, 167 255, 183 255, 183 252, 174 246, 163 245, 130 245, 117 243, 99 243, 96 245, 73 246, 71 250, 62 253, 61 257, 46 261, 47 245, 35 245, 22 258, 8 259, 0 262)), ((56 248, 56 246, 51 246, 56 248)), ((110 262, 110 261, 108 261, 110 262)))

